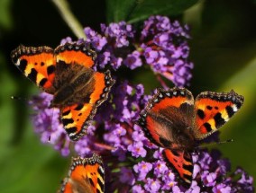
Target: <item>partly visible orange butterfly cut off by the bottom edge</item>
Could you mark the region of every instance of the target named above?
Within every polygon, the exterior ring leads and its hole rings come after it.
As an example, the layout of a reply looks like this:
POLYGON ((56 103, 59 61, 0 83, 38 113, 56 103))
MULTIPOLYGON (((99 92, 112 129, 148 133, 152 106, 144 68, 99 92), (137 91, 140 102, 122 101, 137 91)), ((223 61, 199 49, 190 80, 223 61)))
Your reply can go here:
POLYGON ((103 193, 105 170, 99 155, 90 158, 72 158, 68 177, 58 193, 103 193))

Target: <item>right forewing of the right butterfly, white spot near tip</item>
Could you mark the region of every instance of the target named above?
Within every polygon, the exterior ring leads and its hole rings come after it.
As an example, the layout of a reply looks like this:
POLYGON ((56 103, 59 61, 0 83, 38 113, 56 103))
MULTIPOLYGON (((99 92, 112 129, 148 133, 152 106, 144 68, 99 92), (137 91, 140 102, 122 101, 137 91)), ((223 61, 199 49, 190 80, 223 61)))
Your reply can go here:
POLYGON ((224 125, 242 107, 244 98, 236 92, 201 92, 195 102, 195 137, 203 139, 224 125))

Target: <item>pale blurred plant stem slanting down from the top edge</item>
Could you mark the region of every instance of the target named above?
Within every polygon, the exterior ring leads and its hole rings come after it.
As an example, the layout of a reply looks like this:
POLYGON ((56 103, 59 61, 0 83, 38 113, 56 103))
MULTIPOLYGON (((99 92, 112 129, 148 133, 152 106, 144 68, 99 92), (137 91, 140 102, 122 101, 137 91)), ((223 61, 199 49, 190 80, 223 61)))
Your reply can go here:
POLYGON ((82 25, 78 22, 73 13, 70 12, 69 4, 66 0, 51 0, 56 5, 63 20, 67 22, 69 28, 78 37, 78 39, 87 39, 86 34, 83 31, 82 25))

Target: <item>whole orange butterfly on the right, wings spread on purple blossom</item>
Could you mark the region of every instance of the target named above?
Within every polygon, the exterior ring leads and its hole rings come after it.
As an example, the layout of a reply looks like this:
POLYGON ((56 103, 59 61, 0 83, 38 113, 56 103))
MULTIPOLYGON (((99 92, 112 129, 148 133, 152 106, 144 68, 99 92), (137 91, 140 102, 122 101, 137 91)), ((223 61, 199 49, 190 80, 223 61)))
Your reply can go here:
POLYGON ((201 92, 196 101, 185 88, 158 89, 142 110, 138 124, 145 136, 163 147, 168 165, 190 186, 194 165, 192 151, 197 142, 223 126, 242 107, 236 92, 201 92))

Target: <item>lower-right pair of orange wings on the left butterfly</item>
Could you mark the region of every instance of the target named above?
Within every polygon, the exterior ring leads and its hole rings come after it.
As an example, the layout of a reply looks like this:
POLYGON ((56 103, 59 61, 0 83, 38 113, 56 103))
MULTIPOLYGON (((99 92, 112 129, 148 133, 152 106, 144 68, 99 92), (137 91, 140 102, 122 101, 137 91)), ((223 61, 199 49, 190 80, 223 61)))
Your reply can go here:
MULTIPOLYGON (((63 126, 70 139, 75 141, 86 134, 87 127, 94 118, 98 106, 107 99, 114 84, 109 71, 106 71, 105 74, 95 72, 93 76, 94 81, 88 85, 92 88, 92 92, 87 95, 87 101, 65 106, 60 110, 63 126)), ((78 98, 76 93, 73 98, 78 98)))

